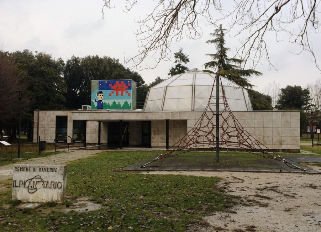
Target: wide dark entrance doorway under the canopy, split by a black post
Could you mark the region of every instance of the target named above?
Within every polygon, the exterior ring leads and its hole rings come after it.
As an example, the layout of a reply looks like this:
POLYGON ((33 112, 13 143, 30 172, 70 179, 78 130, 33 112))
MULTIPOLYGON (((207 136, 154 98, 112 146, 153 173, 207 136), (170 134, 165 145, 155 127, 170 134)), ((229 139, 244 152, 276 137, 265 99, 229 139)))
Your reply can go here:
MULTIPOLYGON (((119 147, 119 122, 108 122, 107 144, 108 147, 119 147)), ((129 123, 122 122, 122 146, 129 146, 129 123)))

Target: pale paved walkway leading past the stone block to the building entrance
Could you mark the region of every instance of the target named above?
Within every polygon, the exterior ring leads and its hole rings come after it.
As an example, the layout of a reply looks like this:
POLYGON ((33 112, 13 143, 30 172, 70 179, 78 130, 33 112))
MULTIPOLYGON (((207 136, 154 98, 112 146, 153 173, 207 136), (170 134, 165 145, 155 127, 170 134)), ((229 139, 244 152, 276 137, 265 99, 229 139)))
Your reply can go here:
MULTIPOLYGON (((76 159, 82 159, 89 156, 94 156, 101 152, 101 150, 74 150, 64 153, 59 153, 52 156, 33 158, 23 160, 19 164, 68 164, 76 159)), ((8 179, 12 176, 13 164, 0 166, 0 180, 8 179)))

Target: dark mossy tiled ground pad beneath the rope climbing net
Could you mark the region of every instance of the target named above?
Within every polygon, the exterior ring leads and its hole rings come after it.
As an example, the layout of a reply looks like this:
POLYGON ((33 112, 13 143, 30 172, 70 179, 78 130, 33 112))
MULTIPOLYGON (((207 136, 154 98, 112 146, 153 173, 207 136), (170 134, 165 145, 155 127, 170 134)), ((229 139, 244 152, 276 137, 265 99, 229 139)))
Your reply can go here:
MULTIPOLYGON (((156 157, 156 156, 155 156, 156 157)), ((135 171, 246 171, 246 172, 295 172, 295 173, 317 173, 311 168, 302 166, 296 163, 293 159, 302 162, 321 162, 321 157, 299 157, 298 159, 293 156, 291 159, 287 159, 289 162, 306 168, 306 171, 302 171, 297 168, 290 168, 283 162, 273 159, 264 158, 261 156, 220 156, 220 161, 216 162, 215 156, 210 155, 176 155, 168 158, 152 162, 147 165, 146 168, 140 168, 142 165, 151 161, 155 157, 145 159, 139 163, 124 168, 123 170, 135 170, 135 171), (306 158, 306 159, 304 159, 306 158), (308 159, 317 158, 317 159, 308 159), (309 161, 313 160, 313 161, 309 161), (161 164, 161 165, 160 165, 161 164), (153 166, 153 167, 152 167, 153 166)), ((284 157, 285 158, 285 157, 284 157)), ((321 173, 320 173, 321 174, 321 173)))

